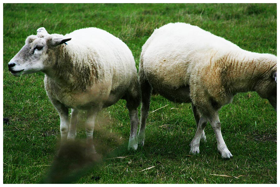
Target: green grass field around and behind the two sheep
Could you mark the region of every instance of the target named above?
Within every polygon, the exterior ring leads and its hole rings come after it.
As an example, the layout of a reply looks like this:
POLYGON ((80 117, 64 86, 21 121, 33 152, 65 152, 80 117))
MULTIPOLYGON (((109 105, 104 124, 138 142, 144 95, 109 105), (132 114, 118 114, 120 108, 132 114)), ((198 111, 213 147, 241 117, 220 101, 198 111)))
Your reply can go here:
MULTIPOLYGON (((142 45, 156 27, 169 22, 191 23, 245 50, 277 54, 276 4, 3 4, 3 117, 9 120, 3 121, 3 183, 277 183, 276 112, 254 92, 237 94, 220 110, 230 160, 218 153, 209 124, 200 154, 189 155, 196 131, 191 105, 153 96, 150 111, 163 108, 149 114, 144 147, 126 151, 129 118, 120 100, 96 122, 94 136, 104 160, 76 167, 63 178, 68 171, 54 161, 59 116, 45 93, 44 74, 13 77, 9 60, 41 26, 60 34, 94 26, 123 40, 138 68, 142 45), (118 152, 106 152, 113 149, 118 152), (60 175, 61 180, 52 180, 60 175)), ((81 141, 83 119, 77 132, 81 141)))

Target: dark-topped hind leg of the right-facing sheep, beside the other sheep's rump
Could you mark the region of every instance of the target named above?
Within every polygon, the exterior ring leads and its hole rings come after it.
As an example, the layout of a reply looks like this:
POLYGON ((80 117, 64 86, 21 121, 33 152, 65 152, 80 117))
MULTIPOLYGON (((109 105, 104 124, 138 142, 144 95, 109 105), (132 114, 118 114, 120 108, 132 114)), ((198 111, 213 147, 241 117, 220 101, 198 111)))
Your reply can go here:
POLYGON ((144 72, 142 68, 139 68, 139 82, 141 88, 141 96, 142 96, 142 106, 141 106, 141 122, 140 128, 138 132, 138 144, 140 146, 144 146, 145 141, 145 128, 146 121, 150 110, 150 102, 151 102, 151 85, 145 78, 144 72))

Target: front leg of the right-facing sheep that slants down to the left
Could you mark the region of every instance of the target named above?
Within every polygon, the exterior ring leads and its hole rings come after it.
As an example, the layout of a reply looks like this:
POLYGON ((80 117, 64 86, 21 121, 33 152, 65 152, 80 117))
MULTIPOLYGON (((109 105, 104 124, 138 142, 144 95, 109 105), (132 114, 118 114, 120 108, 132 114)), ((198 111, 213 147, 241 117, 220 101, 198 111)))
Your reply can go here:
POLYGON ((207 120, 203 116, 201 116, 198 122, 196 133, 194 135, 194 139, 190 143, 190 153, 192 154, 199 153, 199 142, 201 136, 203 135, 206 124, 207 124, 207 120))

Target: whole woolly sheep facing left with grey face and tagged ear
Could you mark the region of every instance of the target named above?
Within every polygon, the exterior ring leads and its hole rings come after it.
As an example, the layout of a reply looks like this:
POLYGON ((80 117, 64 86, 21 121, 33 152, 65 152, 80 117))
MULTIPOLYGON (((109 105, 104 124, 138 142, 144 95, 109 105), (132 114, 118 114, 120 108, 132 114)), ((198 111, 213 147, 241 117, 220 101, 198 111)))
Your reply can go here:
POLYGON ((128 149, 137 149, 140 85, 132 52, 119 38, 95 27, 65 36, 41 27, 27 37, 8 68, 14 76, 45 74, 46 93, 60 117, 62 144, 75 139, 79 110, 87 111, 86 142, 92 144, 97 113, 125 99, 131 125, 128 149))

